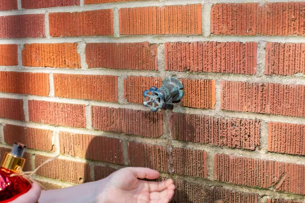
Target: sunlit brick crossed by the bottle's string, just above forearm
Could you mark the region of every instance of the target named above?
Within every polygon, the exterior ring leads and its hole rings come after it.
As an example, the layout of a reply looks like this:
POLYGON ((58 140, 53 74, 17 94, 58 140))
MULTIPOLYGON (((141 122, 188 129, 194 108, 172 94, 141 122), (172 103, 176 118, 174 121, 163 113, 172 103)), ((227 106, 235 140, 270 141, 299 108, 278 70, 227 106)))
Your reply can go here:
MULTIPOLYGON (((35 155, 35 167, 49 159, 48 156, 35 155)), ((90 181, 89 164, 56 158, 39 168, 36 173, 40 176, 67 181, 70 183, 83 183, 90 181)))

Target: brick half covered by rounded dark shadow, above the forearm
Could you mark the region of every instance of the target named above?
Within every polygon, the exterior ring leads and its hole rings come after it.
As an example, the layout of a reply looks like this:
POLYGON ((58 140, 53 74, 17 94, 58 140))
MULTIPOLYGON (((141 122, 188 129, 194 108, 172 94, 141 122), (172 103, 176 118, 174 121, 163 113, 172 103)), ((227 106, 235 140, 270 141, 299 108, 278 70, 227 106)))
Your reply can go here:
POLYGON ((123 164, 122 141, 70 132, 59 133, 60 153, 123 164))

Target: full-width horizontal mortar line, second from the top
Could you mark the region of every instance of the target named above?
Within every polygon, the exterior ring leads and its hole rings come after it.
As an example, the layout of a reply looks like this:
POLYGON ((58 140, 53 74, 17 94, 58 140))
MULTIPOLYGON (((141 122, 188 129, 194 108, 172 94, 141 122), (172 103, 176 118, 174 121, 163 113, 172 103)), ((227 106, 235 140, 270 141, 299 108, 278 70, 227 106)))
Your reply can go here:
POLYGON ((0 44, 32 44, 32 43, 140 43, 162 44, 166 42, 278 42, 305 43, 304 36, 223 36, 223 35, 132 35, 132 36, 79 36, 61 38, 11 38, 0 39, 0 44))

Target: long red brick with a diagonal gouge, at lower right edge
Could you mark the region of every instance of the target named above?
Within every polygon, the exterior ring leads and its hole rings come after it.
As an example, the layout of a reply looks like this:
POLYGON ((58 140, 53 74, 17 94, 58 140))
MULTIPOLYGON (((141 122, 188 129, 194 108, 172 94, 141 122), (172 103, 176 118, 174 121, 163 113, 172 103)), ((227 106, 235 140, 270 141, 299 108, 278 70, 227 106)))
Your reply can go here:
POLYGON ((217 181, 305 194, 305 165, 226 154, 216 154, 214 163, 217 181))

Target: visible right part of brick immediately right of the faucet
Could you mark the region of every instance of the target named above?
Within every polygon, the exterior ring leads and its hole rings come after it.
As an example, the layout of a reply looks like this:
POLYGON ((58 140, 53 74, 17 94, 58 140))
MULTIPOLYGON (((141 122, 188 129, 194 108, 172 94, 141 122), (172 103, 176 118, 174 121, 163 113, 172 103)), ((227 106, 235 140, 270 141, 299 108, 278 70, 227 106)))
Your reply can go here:
POLYGON ((215 109, 215 80, 180 79, 185 94, 181 105, 198 109, 215 109))

